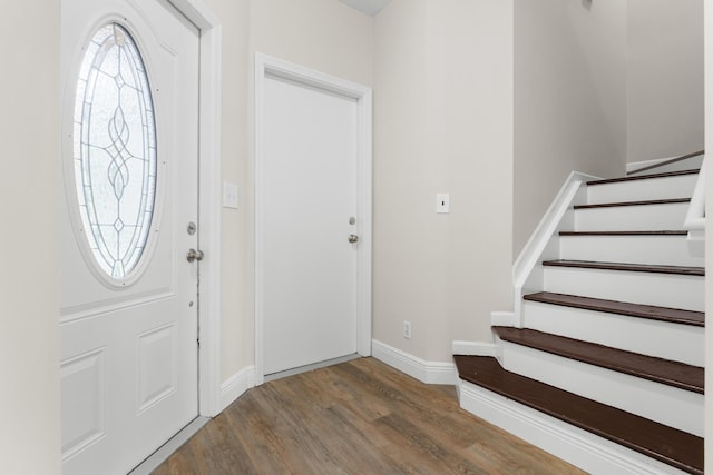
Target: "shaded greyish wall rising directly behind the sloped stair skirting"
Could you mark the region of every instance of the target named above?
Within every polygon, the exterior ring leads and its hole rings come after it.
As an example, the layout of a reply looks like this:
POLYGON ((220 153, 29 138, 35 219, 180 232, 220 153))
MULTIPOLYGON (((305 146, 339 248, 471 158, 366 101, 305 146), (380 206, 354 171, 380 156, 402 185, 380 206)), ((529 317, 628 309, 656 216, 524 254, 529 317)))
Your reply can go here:
POLYGON ((626 162, 626 2, 515 0, 514 257, 570 171, 626 162))

